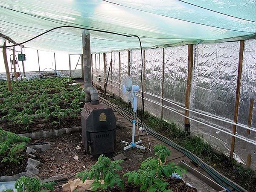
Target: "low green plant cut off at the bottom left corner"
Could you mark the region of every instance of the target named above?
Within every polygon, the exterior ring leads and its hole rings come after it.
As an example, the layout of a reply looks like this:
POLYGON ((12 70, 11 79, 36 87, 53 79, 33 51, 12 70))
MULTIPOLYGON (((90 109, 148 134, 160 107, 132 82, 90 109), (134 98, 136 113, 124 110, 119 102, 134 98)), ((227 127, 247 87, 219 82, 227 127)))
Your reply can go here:
MULTIPOLYGON (((22 176, 15 182, 15 189, 17 190, 17 192, 48 192, 49 190, 54 191, 53 186, 55 184, 55 182, 41 184, 40 180, 36 179, 35 177, 22 176)), ((5 192, 13 192, 13 190, 7 189, 5 190, 5 192)))

